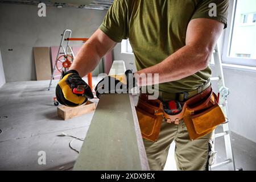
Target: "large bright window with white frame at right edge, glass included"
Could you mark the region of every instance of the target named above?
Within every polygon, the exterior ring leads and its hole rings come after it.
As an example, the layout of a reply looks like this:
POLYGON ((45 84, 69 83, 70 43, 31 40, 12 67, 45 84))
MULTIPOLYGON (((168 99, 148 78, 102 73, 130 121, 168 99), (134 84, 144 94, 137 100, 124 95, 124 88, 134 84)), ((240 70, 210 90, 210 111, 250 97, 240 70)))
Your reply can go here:
POLYGON ((256 1, 229 2, 232 10, 229 10, 222 60, 228 64, 256 67, 256 1))

